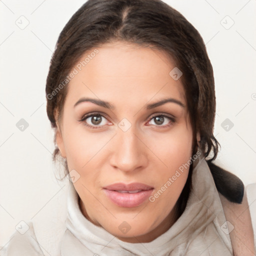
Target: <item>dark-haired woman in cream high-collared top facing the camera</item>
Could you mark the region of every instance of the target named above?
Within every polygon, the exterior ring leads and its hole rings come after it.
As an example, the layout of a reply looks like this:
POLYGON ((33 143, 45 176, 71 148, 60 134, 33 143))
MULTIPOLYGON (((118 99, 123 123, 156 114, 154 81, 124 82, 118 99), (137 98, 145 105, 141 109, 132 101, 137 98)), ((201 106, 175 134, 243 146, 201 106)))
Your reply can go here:
MULTIPOLYGON (((212 67, 180 13, 88 0, 60 33, 46 98, 70 178, 58 255, 254 254, 244 186, 212 163, 212 67)), ((21 252, 43 255, 31 223, 7 249, 21 252)))

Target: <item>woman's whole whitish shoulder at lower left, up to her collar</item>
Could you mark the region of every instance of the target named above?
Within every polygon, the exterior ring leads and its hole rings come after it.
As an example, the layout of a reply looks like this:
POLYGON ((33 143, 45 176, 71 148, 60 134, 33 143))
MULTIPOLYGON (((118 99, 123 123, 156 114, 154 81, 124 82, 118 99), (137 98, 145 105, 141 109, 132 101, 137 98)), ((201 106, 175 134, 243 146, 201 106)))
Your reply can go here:
POLYGON ((59 255, 59 244, 66 230, 68 186, 62 183, 61 188, 57 186, 57 189, 58 192, 43 206, 40 214, 33 220, 25 220, 26 231, 23 234, 16 227, 17 230, 8 237, 9 242, 0 249, 0 256, 59 255))

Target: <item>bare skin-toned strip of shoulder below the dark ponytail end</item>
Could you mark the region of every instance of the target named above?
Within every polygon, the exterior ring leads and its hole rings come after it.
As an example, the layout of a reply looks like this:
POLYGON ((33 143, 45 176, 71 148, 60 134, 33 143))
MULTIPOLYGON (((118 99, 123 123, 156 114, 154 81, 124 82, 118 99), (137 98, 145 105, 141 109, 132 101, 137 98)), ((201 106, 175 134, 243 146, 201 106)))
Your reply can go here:
POLYGON ((226 221, 228 221, 229 236, 234 255, 255 255, 254 234, 247 200, 246 189, 241 203, 229 201, 219 193, 226 221))

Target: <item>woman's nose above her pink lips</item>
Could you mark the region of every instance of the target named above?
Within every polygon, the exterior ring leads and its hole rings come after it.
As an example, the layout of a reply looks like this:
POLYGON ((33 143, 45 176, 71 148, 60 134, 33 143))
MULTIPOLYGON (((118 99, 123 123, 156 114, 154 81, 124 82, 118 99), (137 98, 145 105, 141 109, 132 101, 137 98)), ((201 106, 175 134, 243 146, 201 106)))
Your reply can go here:
POLYGON ((147 164, 146 146, 135 130, 130 127, 127 131, 118 128, 111 147, 110 164, 121 171, 139 170, 147 164))

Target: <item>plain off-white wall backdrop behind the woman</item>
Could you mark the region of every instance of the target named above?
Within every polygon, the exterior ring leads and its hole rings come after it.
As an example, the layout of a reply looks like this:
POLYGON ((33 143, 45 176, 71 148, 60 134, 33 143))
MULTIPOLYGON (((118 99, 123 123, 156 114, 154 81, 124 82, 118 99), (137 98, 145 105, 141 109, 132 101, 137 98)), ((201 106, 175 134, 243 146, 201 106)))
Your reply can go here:
MULTIPOLYGON (((54 176, 44 91, 57 37, 84 2, 0 0, 0 245, 20 220, 46 217, 65 197, 66 182, 54 176)), ((256 0, 165 2, 199 31, 213 66, 216 163, 254 183, 256 0)))

